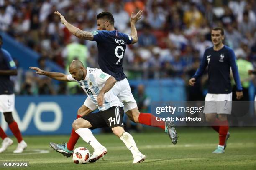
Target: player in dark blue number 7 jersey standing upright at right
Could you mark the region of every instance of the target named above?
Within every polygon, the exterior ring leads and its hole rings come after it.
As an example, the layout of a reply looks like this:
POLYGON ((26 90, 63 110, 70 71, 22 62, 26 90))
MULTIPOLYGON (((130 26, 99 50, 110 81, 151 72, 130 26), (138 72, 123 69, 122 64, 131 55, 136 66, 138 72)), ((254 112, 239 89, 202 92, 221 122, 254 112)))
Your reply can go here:
POLYGON ((228 133, 227 114, 231 114, 232 89, 230 83, 230 67, 236 82, 236 98, 243 97, 242 86, 236 65, 234 51, 223 44, 224 30, 220 27, 212 29, 213 47, 205 50, 201 64, 195 75, 189 80, 193 86, 208 66, 208 93, 205 97, 205 118, 212 128, 219 133, 219 145, 213 153, 224 153, 228 133), (218 115, 218 118, 217 118, 218 115))

